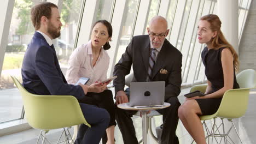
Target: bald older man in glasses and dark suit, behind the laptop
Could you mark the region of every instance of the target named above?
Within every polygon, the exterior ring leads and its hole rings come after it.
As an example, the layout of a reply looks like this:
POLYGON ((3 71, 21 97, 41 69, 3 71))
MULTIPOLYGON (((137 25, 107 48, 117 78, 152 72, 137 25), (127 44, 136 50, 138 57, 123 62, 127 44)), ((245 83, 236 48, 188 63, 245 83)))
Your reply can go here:
MULTIPOLYGON (((124 91, 124 85, 125 75, 130 73, 131 65, 134 73, 132 82, 165 81, 165 102, 171 106, 158 110, 163 115, 160 143, 179 143, 176 128, 177 111, 181 103, 177 96, 181 92, 182 53, 165 39, 169 29, 164 17, 153 17, 147 30, 148 35, 132 38, 125 53, 115 65, 113 75, 118 76, 113 82, 116 104, 129 102, 130 89, 124 91)), ((117 108, 116 119, 124 143, 138 143, 131 119, 136 112, 117 108)))

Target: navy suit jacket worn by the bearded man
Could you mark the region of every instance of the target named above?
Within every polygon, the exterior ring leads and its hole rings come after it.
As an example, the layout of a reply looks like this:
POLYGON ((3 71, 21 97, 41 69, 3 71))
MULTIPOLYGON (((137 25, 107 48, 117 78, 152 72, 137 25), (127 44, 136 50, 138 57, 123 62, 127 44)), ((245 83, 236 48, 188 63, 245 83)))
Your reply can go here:
POLYGON ((85 96, 81 86, 68 85, 60 69, 54 46, 35 32, 28 45, 21 68, 22 85, 28 92, 40 95, 85 96))

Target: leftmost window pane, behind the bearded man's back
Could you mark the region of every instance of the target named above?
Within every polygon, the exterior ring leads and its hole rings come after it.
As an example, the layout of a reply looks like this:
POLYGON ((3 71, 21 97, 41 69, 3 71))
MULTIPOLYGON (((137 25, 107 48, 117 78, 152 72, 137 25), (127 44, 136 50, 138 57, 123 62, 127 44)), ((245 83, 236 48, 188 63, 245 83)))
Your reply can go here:
POLYGON ((27 44, 34 34, 30 10, 37 1, 16 0, 11 18, 8 45, 5 50, 0 77, 0 123, 21 116, 22 100, 10 75, 21 79, 21 65, 27 44))

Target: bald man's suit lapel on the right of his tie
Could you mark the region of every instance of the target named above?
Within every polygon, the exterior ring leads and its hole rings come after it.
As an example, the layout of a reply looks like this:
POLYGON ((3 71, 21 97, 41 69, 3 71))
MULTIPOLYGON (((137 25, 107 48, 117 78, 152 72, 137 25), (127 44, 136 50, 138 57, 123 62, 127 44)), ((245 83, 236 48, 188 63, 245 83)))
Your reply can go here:
POLYGON ((165 59, 167 57, 168 53, 168 48, 166 45, 166 41, 162 45, 161 51, 158 53, 158 58, 156 59, 154 68, 153 68, 153 73, 152 73, 152 79, 154 79, 154 76, 158 73, 158 71, 162 68, 162 65, 165 63, 165 59))

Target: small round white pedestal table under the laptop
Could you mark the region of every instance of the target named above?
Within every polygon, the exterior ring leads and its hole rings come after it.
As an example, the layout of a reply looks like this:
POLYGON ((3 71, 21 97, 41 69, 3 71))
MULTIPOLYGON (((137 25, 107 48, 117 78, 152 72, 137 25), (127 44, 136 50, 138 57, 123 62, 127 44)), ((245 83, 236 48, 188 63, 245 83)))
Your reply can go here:
POLYGON ((132 107, 129 105, 129 103, 123 103, 123 104, 119 104, 118 107, 120 109, 124 109, 124 110, 133 110, 133 111, 141 111, 142 113, 142 139, 143 139, 143 143, 147 144, 147 112, 151 111, 151 110, 158 110, 158 109, 164 109, 168 106, 170 106, 171 104, 169 103, 164 103, 164 105, 162 105, 161 107, 132 107))

